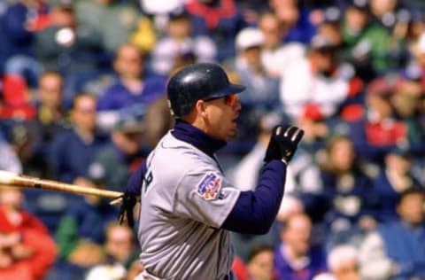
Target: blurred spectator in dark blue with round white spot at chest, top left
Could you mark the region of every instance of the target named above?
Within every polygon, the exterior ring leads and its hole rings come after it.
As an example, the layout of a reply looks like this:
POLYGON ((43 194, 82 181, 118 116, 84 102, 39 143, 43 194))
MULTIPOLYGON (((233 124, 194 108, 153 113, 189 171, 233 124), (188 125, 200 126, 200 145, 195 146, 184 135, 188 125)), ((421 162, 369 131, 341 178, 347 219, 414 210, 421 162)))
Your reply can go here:
POLYGON ((104 50, 97 30, 78 21, 73 5, 52 6, 50 18, 50 25, 35 35, 35 55, 43 69, 64 75, 63 99, 68 109, 81 76, 97 73, 104 66, 104 50))

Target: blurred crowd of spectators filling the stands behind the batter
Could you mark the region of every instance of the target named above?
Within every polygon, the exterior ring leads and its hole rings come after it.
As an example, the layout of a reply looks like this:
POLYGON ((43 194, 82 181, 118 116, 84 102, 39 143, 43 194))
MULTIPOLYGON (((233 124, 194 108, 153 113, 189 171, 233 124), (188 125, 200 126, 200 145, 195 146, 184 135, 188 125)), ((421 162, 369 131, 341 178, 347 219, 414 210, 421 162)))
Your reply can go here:
MULTIPOLYGON (((236 188, 255 188, 274 125, 305 130, 273 229, 232 234, 238 279, 425 279, 420 0, 1 1, 0 169, 125 191, 194 62, 247 87, 218 154, 236 188)), ((133 279, 118 211, 1 186, 0 278, 133 279)))

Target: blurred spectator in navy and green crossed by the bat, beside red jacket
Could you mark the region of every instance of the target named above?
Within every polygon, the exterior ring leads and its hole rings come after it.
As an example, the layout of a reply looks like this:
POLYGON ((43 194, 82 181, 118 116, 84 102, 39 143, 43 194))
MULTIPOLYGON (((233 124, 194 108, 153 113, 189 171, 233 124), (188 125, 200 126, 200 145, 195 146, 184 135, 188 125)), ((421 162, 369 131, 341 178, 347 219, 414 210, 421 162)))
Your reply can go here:
MULTIPOLYGON (((87 188, 104 188, 99 182, 102 182, 102 175, 95 173, 88 179, 81 178, 78 183, 87 188)), ((81 279, 88 268, 106 261, 105 230, 117 215, 115 207, 96 196, 83 196, 66 209, 55 233, 64 277, 81 279)))

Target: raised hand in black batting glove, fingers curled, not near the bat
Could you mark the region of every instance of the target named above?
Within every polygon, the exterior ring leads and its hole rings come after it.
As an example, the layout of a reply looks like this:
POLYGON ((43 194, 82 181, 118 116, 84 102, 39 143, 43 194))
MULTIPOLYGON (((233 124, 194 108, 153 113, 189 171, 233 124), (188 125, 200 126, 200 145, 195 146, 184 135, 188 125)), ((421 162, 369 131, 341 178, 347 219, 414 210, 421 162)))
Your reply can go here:
POLYGON ((268 162, 272 159, 279 159, 286 164, 290 163, 303 136, 304 130, 301 128, 288 125, 274 127, 264 160, 268 162))

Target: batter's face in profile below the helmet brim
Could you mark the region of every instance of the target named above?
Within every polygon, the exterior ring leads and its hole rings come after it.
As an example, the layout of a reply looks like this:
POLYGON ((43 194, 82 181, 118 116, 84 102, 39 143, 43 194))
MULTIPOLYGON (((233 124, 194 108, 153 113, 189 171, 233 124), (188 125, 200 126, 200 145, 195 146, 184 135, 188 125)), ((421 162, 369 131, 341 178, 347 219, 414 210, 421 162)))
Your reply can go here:
POLYGON ((236 94, 205 100, 207 118, 206 133, 220 140, 229 140, 237 135, 236 120, 242 106, 236 94))

